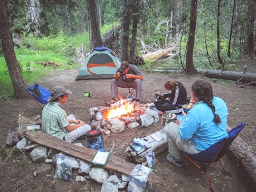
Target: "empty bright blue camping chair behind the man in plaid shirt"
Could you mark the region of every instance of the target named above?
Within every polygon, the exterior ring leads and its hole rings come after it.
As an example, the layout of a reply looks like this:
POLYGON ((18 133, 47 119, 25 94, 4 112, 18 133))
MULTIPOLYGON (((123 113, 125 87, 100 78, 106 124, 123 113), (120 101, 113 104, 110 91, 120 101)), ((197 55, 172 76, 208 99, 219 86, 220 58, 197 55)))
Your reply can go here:
POLYGON ((33 97, 40 108, 43 108, 40 104, 47 104, 47 99, 50 97, 51 92, 44 88, 42 85, 36 83, 26 88, 29 95, 33 97))

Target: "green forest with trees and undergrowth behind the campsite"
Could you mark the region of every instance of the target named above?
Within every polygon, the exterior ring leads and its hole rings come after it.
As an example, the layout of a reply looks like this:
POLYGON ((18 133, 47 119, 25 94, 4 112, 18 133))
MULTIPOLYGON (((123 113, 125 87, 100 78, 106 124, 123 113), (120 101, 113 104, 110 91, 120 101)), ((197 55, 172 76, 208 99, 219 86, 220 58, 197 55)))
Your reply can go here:
MULTIPOLYGON (((47 76, 52 68, 80 67, 86 54, 101 45, 129 63, 136 56, 171 49, 176 69, 188 74, 198 68, 241 70, 236 59, 255 54, 255 4, 254 0, 1 1, 1 20, 7 20, 0 22, 0 98, 28 97, 24 88, 35 79, 47 76)), ((149 70, 150 62, 139 67, 149 70)))

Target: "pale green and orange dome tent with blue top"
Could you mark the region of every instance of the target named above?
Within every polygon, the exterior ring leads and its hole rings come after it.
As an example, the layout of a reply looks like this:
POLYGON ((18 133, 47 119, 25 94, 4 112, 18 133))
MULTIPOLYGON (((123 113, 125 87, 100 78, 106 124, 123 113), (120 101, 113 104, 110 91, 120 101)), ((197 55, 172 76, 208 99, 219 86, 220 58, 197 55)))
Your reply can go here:
POLYGON ((85 58, 76 80, 112 79, 120 65, 121 61, 115 52, 107 47, 96 47, 85 58))

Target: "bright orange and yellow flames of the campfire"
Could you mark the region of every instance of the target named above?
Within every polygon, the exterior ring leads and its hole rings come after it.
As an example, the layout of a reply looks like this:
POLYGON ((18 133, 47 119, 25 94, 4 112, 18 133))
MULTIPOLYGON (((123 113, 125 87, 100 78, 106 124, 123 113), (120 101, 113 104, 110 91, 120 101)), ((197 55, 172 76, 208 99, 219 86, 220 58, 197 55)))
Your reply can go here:
POLYGON ((122 115, 129 115, 134 112, 134 104, 131 102, 123 102, 121 99, 121 106, 114 106, 113 108, 109 109, 107 118, 115 118, 120 117, 122 115))

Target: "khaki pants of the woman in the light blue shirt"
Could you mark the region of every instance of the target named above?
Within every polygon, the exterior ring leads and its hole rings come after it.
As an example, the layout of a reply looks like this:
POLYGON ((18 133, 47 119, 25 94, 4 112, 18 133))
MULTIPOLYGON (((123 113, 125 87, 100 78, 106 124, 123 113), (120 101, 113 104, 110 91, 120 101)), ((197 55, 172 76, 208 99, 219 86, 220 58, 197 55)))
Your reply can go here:
POLYGON ((197 150, 193 143, 189 140, 182 140, 179 134, 179 125, 170 122, 167 125, 166 138, 168 142, 168 151, 175 159, 181 159, 182 154, 180 150, 188 154, 198 154, 200 150, 197 150))

